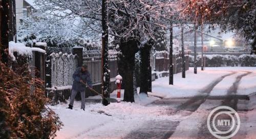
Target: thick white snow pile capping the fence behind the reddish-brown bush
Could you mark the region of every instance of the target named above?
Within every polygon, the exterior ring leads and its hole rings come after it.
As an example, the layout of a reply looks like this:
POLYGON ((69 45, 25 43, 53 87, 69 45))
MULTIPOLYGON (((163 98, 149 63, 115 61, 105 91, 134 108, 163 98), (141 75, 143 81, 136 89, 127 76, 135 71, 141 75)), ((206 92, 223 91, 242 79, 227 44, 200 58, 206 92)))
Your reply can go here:
POLYGON ((9 56, 12 58, 13 61, 16 60, 15 56, 13 55, 14 52, 17 52, 18 55, 22 56, 32 56, 32 49, 26 47, 23 43, 15 43, 13 41, 9 42, 9 56))

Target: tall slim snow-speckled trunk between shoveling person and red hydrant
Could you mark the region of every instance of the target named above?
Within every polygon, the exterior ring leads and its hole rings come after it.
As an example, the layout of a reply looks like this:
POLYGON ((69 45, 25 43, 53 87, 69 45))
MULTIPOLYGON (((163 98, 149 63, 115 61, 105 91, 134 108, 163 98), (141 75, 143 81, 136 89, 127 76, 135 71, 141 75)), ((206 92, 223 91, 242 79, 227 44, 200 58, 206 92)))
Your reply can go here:
MULTIPOLYGON (((108 3, 102 0, 102 95, 104 98, 110 98, 110 71, 109 71, 109 25, 108 25, 108 3)), ((110 102, 102 98, 103 105, 109 105, 110 102)))

